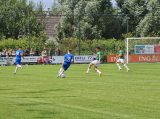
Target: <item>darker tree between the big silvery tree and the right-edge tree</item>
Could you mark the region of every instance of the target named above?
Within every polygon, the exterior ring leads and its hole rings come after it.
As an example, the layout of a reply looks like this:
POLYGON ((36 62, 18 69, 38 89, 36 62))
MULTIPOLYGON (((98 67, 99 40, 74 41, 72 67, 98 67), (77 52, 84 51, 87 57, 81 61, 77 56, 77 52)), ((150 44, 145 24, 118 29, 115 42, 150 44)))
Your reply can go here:
MULTIPOLYGON (((147 9, 148 0, 116 0, 119 9, 120 19, 122 21, 122 26, 126 28, 127 19, 129 25, 129 32, 136 33, 136 28, 139 22, 145 17, 149 11, 147 9)), ((126 33, 126 32, 125 32, 126 33)))

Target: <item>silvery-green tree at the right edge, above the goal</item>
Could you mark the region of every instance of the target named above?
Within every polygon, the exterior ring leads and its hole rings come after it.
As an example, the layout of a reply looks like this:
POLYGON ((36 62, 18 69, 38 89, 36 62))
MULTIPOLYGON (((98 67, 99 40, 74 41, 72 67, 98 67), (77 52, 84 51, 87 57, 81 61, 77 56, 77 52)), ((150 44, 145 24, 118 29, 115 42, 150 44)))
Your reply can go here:
POLYGON ((160 1, 150 0, 146 3, 148 14, 142 19, 136 29, 140 36, 159 34, 160 32, 160 1))

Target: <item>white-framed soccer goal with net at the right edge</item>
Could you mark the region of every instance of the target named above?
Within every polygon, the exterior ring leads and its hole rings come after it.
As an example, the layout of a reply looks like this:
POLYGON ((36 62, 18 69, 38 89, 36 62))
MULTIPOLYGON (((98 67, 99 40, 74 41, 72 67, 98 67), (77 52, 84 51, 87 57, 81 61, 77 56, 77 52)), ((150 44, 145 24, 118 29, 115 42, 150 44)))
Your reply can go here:
POLYGON ((125 62, 160 62, 160 37, 127 38, 125 62))

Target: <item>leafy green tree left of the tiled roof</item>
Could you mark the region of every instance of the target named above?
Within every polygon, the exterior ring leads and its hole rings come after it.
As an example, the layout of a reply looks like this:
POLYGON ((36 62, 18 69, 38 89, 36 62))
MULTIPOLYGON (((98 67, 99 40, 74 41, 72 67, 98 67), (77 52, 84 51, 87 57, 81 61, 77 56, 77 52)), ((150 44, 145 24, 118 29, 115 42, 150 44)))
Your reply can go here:
POLYGON ((0 37, 18 39, 27 36, 29 32, 34 31, 38 36, 44 31, 45 19, 41 1, 37 4, 37 9, 32 1, 27 4, 27 0, 0 0, 0 5, 3 6, 0 7, 0 37))

